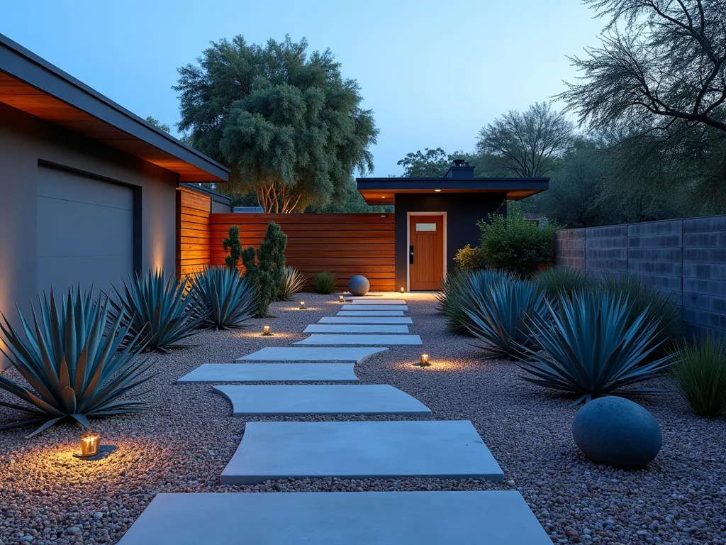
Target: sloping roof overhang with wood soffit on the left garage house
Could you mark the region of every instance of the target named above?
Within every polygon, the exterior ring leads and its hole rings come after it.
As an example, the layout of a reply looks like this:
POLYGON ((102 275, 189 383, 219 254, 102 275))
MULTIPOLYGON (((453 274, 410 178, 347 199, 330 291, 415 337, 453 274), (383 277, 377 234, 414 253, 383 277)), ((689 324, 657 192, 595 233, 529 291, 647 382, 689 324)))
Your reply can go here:
POLYGON ((0 34, 0 102, 179 174, 228 182, 229 169, 0 34))

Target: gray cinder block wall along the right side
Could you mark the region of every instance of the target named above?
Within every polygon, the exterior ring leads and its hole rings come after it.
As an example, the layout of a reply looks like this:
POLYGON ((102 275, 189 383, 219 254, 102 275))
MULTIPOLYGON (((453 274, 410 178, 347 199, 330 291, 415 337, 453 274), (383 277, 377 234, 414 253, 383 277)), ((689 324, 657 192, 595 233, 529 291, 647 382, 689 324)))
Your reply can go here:
POLYGON ((558 231, 555 265, 637 275, 681 305, 687 334, 726 336, 726 216, 558 231))

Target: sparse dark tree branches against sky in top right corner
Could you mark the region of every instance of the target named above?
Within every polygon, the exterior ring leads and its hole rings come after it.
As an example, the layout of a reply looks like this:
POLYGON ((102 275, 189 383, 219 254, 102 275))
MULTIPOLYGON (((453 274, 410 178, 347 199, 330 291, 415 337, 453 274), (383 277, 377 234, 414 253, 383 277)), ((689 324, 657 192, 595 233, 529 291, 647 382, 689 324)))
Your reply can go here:
POLYGON ((608 19, 600 47, 571 57, 582 74, 560 97, 582 124, 726 132, 724 0, 584 0, 608 19))

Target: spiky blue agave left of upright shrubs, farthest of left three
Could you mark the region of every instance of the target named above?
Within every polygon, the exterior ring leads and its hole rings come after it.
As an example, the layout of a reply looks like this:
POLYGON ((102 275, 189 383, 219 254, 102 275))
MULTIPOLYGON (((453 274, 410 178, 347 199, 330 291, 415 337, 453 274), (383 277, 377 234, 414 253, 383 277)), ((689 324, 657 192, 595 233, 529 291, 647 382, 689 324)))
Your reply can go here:
POLYGON ((237 270, 207 266, 188 280, 192 294, 203 307, 205 326, 215 329, 240 327, 258 307, 258 294, 237 270))

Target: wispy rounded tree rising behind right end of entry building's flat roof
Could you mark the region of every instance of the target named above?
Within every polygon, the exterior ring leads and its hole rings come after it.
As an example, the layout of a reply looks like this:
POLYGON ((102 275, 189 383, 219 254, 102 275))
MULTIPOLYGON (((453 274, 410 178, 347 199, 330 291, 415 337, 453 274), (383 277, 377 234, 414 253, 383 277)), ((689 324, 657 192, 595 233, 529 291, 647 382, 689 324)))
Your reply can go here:
POLYGON ((537 102, 525 112, 510 110, 481 129, 476 148, 481 155, 500 158, 510 174, 542 177, 568 150, 573 129, 562 113, 546 102, 537 102))

